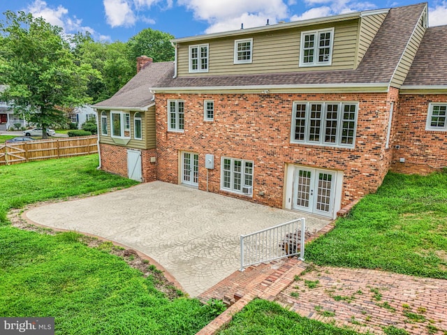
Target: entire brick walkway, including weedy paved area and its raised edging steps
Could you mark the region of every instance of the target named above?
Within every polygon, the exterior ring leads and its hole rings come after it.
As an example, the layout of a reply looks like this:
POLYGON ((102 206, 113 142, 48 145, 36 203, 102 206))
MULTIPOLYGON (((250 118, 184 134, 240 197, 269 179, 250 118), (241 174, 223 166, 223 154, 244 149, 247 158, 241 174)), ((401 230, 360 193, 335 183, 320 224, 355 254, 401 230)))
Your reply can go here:
POLYGON ((306 268, 292 258, 235 271, 199 296, 226 297, 233 305, 198 334, 215 334, 256 297, 360 333, 384 334, 382 327, 393 326, 409 334, 447 334, 445 280, 333 267, 312 267, 301 275, 306 268))

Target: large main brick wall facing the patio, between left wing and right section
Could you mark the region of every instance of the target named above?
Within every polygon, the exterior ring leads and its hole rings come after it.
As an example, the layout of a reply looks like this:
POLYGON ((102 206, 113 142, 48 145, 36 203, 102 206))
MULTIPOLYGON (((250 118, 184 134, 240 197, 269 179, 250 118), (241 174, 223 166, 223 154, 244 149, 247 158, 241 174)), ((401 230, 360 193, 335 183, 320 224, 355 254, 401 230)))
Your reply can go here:
POLYGON ((199 188, 206 189, 205 154, 214 154, 208 188, 282 207, 286 163, 342 170, 342 207, 376 191, 388 171, 391 151, 385 150, 390 94, 157 94, 157 174, 179 183, 179 151, 199 154, 199 188), (184 100, 184 133, 168 132, 168 99, 184 100), (214 100, 214 121, 203 121, 203 101, 214 100), (355 101, 359 103, 356 148, 291 144, 293 101, 355 101), (221 157, 254 161, 253 198, 220 191, 221 157), (259 192, 264 195, 259 195, 259 192))

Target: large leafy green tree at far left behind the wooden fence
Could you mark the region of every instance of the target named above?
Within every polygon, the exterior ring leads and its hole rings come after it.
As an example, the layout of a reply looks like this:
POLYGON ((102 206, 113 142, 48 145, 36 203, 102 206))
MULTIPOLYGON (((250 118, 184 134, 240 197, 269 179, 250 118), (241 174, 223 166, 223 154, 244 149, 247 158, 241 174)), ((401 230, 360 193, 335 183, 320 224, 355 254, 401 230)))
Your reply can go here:
POLYGON ((61 28, 24 12, 3 13, 0 23, 0 83, 7 88, 0 101, 43 128, 65 124, 64 108, 89 103, 87 82, 97 75, 89 64, 74 63, 61 28))

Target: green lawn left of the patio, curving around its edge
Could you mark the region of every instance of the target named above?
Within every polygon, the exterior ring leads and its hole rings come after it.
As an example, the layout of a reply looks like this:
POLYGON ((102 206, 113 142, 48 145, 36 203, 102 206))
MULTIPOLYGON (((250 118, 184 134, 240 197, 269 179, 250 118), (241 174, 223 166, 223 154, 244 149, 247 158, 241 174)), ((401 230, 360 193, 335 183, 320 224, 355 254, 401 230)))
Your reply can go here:
POLYGON ((156 290, 156 271, 145 278, 74 232, 51 236, 6 221, 10 208, 138 184, 97 164, 91 155, 0 166, 0 316, 52 316, 61 335, 195 334, 214 318, 212 308, 168 299, 156 290))

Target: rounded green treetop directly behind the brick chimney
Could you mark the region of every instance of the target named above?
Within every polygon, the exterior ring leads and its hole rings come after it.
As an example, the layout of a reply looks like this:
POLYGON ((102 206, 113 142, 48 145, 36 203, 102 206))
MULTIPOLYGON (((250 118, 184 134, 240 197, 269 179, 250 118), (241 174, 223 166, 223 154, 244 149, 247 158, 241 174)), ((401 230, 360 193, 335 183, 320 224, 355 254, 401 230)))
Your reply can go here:
POLYGON ((163 31, 143 29, 135 36, 129 38, 129 57, 135 60, 138 56, 152 57, 154 62, 173 61, 174 47, 170 44, 174 36, 163 31))

